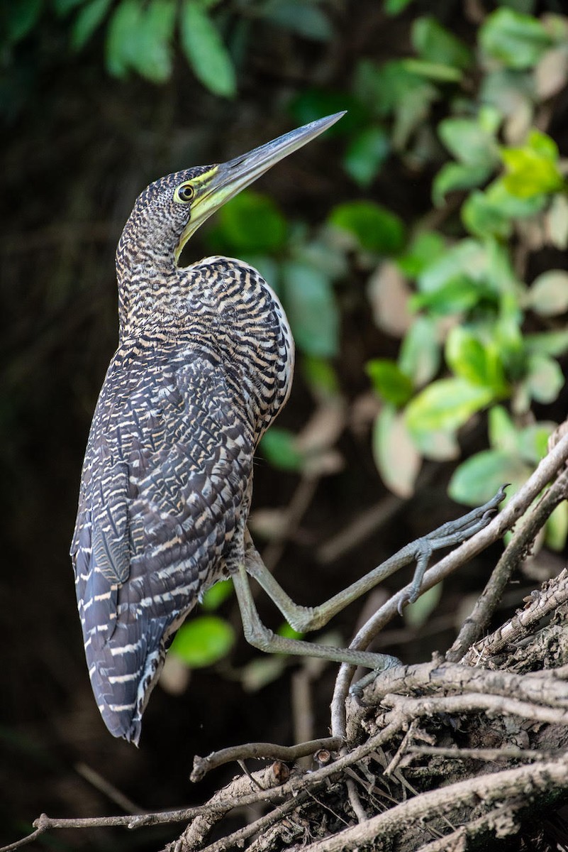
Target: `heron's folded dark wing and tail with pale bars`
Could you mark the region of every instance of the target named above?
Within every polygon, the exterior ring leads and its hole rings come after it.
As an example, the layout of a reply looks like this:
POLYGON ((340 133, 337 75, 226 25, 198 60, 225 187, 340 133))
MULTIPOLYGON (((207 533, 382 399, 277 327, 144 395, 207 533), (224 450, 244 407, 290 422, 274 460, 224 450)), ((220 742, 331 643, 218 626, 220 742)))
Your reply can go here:
POLYGON ((212 359, 177 344, 119 349, 71 547, 88 670, 117 736, 138 741, 168 635, 224 572, 252 458, 250 425, 212 359))

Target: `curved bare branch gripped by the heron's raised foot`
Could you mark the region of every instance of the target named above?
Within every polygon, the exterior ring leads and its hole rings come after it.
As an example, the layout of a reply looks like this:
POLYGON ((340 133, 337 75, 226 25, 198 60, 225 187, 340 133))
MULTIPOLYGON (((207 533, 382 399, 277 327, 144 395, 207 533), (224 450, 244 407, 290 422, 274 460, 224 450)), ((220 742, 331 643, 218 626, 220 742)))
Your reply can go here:
MULTIPOLYGON (((505 508, 496 515, 493 520, 485 527, 476 533, 473 538, 460 544, 455 550, 452 550, 443 559, 440 559, 435 566, 429 568, 424 574, 422 591, 431 589, 432 586, 439 583, 448 574, 461 567, 465 562, 477 556, 482 550, 485 550, 490 544, 497 541, 511 527, 514 526, 521 515, 524 514, 528 506, 542 491, 542 488, 554 477, 559 468, 561 468, 568 458, 568 435, 564 435, 554 449, 548 453, 548 456, 542 459, 537 469, 525 482, 525 485, 520 488, 514 497, 509 501, 505 508)), ((359 630, 349 648, 361 650, 367 648, 372 638, 377 635, 379 630, 382 630, 391 619, 395 618, 398 613, 399 602, 405 600, 405 597, 410 590, 410 585, 405 589, 397 592, 391 597, 383 607, 378 609, 377 613, 369 619, 366 625, 359 630)), ((338 736, 344 739, 345 737, 345 701, 349 693, 349 684, 353 677, 355 667, 342 663, 339 668, 338 677, 335 682, 335 689, 332 698, 332 736, 338 736)))

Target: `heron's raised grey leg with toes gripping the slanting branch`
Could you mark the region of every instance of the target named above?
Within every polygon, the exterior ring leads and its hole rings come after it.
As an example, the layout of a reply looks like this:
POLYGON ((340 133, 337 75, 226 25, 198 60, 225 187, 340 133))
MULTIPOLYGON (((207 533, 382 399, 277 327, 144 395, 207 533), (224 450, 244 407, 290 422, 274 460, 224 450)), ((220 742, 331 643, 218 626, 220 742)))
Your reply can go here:
MULTIPOLYGON (((466 538, 471 538, 475 533, 486 527, 492 515, 495 514, 497 505, 501 503, 505 496, 504 488, 505 486, 499 488, 497 494, 483 506, 473 509, 467 515, 463 515, 455 521, 446 521, 445 524, 442 524, 441 527, 438 527, 432 533, 428 533, 422 538, 417 538, 411 544, 406 544, 394 556, 390 556, 389 559, 382 562, 378 567, 373 568, 364 577, 355 580, 355 583, 349 585, 347 589, 338 592, 337 595, 332 596, 328 601, 321 603, 317 607, 302 607, 293 602, 292 598, 281 588, 281 585, 276 582, 268 568, 264 565, 249 534, 247 534, 246 571, 262 586, 266 594, 281 611, 284 618, 287 619, 288 624, 294 630, 304 633, 309 630, 319 630, 324 625, 327 625, 327 622, 334 615, 341 612, 344 607, 347 607, 349 603, 364 595, 383 579, 398 571, 399 568, 408 565, 412 561, 416 561, 414 577, 408 587, 406 596, 400 602, 400 611, 406 602, 413 603, 419 596, 424 571, 428 567, 430 557, 434 551, 461 544, 466 538)), ((239 600, 239 602, 241 601, 239 600)), ((315 646, 310 644, 309 647, 314 648, 315 646)), ((302 652, 292 651, 291 653, 302 652)), ((337 659, 337 656, 330 657, 329 659, 337 659)), ((342 659, 343 661, 350 662, 350 659, 342 659)))

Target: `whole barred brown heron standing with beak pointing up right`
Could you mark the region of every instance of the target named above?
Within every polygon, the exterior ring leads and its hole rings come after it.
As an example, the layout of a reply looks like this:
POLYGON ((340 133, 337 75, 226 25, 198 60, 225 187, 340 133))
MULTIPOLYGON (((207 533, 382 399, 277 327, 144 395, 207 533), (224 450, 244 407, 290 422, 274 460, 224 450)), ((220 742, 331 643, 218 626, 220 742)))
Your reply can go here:
POLYGON ((248 576, 294 627, 314 630, 417 559, 412 600, 431 551, 484 526, 498 502, 407 545, 319 607, 295 604, 254 549, 253 454, 290 392, 292 334, 256 269, 221 256, 181 268, 179 255, 222 204, 343 114, 228 163, 151 183, 118 243, 119 345, 88 437, 71 557, 99 711, 111 734, 134 743, 168 642, 219 579, 233 577, 256 647, 383 668, 393 658, 272 634, 258 619, 248 576))

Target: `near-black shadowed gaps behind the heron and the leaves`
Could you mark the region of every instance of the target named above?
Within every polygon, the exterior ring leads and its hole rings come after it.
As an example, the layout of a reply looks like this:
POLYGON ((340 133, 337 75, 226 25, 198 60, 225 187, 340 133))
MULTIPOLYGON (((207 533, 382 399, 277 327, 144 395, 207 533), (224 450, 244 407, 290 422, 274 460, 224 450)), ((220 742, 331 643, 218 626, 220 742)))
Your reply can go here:
MULTIPOLYGON (((116 346, 114 251, 139 191, 157 176, 223 161, 301 124, 294 104, 307 90, 326 93, 327 101, 323 96, 316 99, 319 114, 326 112, 326 102, 327 112, 342 108, 343 101, 349 107, 357 64, 361 59, 380 64, 411 55, 410 30, 419 15, 434 14, 471 47, 482 14, 476 3, 412 3, 397 16, 385 14, 375 0, 338 0, 314 8, 328 22, 325 37, 294 32, 268 14, 250 14, 247 19, 247 3, 219 4, 215 14, 236 56, 238 93, 232 99, 208 91, 177 50, 171 77, 162 84, 134 73, 120 79, 110 76, 102 60, 104 28, 81 52, 74 52, 69 44, 70 19, 55 14, 49 3, 24 37, 4 45, 0 141, 0 840, 4 843, 25 833, 42 811, 62 816, 115 813, 116 801, 85 779, 82 766, 93 769, 140 808, 169 808, 202 801, 232 774, 229 768, 198 788, 191 786, 195 753, 247 740, 290 743, 297 737, 293 678, 305 666, 291 660, 264 688, 247 691, 242 667, 257 654, 239 639, 230 659, 216 668, 193 671, 182 694, 156 688, 145 713, 139 750, 113 740, 99 718, 88 682, 67 551, 88 426, 116 346), (241 38, 239 52, 236 29, 243 20, 247 37, 241 38)), ((559 95, 554 105, 556 127, 565 125, 565 107, 565 94, 559 95)), ((438 118, 445 108, 443 103, 435 107, 438 118)), ((562 151, 563 135, 554 138, 562 151)), ((343 200, 373 199, 409 225, 431 212, 430 182, 443 159, 440 153, 422 163, 392 153, 369 185, 361 187, 344 169, 345 146, 341 132, 327 135, 270 171, 258 190, 276 200, 287 221, 301 220, 310 231, 343 200)), ((451 217, 448 221, 449 232, 458 233, 459 225, 451 217)), ((193 239, 187 260, 207 253, 204 229, 193 239)), ((531 275, 551 265, 565 266, 556 248, 542 250, 531 275)), ((340 347, 331 363, 347 413, 332 445, 341 463, 316 481, 313 498, 298 524, 290 527, 291 538, 275 560, 277 577, 298 602, 320 602, 407 540, 459 512, 446 497, 451 463, 426 463, 415 495, 406 500, 393 497, 378 475, 371 446, 378 399, 370 392, 365 364, 379 356, 395 357, 398 342, 373 320, 368 275, 365 257, 352 252, 335 286, 340 347), (351 529, 369 509, 374 514, 365 536, 353 538, 335 558, 318 558, 322 545, 344 527, 351 529)), ((293 395, 279 426, 298 432, 317 401, 300 359, 293 395)), ((559 421, 564 412, 560 393, 555 407, 537 414, 559 421)), ((463 452, 471 455, 484 446, 486 429, 478 419, 469 424, 463 452)), ((277 509, 282 515, 302 481, 298 471, 278 469, 259 455, 255 509, 277 509)), ((278 512, 268 517, 273 529, 278 512)), ((487 558, 491 560, 491 555, 487 558)), ((486 572, 483 561, 469 567, 447 584, 428 626, 403 630, 399 622, 384 647, 391 642, 389 650, 408 662, 428 659, 435 648, 445 648, 463 597, 480 588, 486 572)), ((392 579, 390 588, 407 579, 392 579)), ((333 622, 344 641, 364 606, 361 602, 349 607, 333 622)), ((280 623, 262 598, 259 607, 270 625, 280 623)), ((219 612, 238 627, 232 599, 219 612)), ((311 682, 313 715, 308 725, 314 735, 327 733, 335 669, 325 666, 311 682)), ((44 838, 41 845, 156 849, 173 836, 163 830, 62 832, 57 838, 44 838)))

